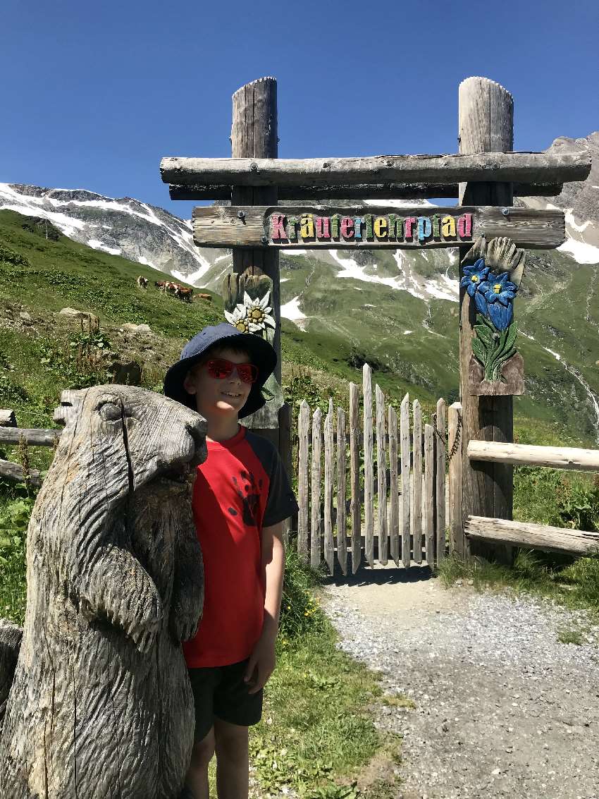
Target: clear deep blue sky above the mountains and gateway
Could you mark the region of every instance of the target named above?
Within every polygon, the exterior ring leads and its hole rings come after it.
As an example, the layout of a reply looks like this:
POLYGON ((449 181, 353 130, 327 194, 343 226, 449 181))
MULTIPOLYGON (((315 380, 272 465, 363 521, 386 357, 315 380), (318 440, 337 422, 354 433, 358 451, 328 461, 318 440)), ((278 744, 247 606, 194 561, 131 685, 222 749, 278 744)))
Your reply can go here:
POLYGON ((514 94, 515 149, 599 128, 599 2, 3 0, 0 181, 169 200, 165 155, 227 157, 274 75, 280 157, 457 151, 458 84, 514 94))

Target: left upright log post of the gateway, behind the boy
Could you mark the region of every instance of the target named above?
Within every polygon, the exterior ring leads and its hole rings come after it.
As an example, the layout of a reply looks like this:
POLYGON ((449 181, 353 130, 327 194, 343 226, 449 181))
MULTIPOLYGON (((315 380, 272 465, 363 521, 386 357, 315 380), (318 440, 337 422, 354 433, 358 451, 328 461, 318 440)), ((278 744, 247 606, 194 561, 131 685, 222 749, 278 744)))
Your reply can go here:
MULTIPOLYGON (((276 158, 279 153, 277 138, 276 79, 258 78, 233 94, 233 123, 231 128, 231 155, 233 158, 276 158)), ((276 186, 233 186, 232 205, 276 205, 276 186)), ((275 348, 276 380, 281 380, 281 329, 280 329, 280 272, 279 253, 274 248, 249 249, 233 247, 233 271, 260 269, 272 280, 272 314, 276 320, 275 348)), ((260 273, 256 272, 256 273, 260 273)), ((245 424, 260 432, 275 444, 282 457, 279 441, 278 419, 266 418, 264 413, 246 419, 245 424)))

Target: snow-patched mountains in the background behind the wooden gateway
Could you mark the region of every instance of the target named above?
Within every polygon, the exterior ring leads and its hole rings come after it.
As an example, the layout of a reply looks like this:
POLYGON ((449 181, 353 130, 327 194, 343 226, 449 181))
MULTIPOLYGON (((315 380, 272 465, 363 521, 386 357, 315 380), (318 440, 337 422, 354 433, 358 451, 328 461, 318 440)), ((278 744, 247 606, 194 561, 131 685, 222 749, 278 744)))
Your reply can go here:
MULTIPOLYGON (((527 255, 517 314, 529 396, 519 402, 525 414, 534 403, 549 419, 575 417, 599 441, 599 133, 559 138, 552 148, 586 149, 593 169, 586 181, 565 184, 558 197, 518 200, 564 209, 567 233, 561 248, 527 255)), ((188 221, 130 198, 0 184, 0 208, 46 218, 90 247, 216 292, 232 268, 230 251, 194 246, 188 221)), ((280 273, 281 316, 321 342, 333 360, 367 358, 430 396, 441 389, 451 396, 458 368, 457 251, 295 249, 281 252, 280 273)))

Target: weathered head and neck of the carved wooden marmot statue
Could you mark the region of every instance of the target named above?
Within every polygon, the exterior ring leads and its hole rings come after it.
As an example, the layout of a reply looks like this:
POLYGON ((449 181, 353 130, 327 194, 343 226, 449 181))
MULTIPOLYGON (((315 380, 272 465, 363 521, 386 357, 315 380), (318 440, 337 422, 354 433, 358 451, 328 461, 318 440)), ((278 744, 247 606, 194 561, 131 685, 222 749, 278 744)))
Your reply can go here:
MULTIPOLYGON (((123 503, 157 479, 173 481, 180 492, 206 457, 205 419, 135 386, 62 392, 54 419, 65 429, 32 521, 56 528, 59 551, 68 541, 81 552, 93 549, 95 539, 118 537, 126 522, 123 503)), ((61 555, 75 565, 72 553, 61 555)))

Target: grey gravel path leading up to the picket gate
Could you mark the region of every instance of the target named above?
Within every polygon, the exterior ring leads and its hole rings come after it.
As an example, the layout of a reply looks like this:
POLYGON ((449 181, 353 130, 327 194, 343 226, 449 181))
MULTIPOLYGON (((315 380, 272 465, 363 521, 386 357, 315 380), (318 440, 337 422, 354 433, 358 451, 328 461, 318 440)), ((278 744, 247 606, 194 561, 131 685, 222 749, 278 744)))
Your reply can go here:
POLYGON ((323 604, 343 650, 415 702, 377 720, 403 735, 398 797, 599 799, 599 627, 584 612, 415 569, 331 583, 323 604))

